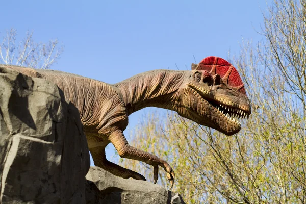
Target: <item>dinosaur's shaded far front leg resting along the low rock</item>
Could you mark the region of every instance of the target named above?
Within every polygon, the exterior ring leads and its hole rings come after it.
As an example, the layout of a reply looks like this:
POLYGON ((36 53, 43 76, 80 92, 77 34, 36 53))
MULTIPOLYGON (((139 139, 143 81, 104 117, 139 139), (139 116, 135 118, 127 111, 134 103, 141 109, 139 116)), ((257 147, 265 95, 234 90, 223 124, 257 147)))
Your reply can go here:
POLYGON ((144 180, 146 181, 145 177, 135 171, 132 171, 130 169, 123 168, 122 166, 119 166, 117 164, 114 164, 106 159, 105 155, 105 147, 95 147, 90 149, 90 153, 94 162, 95 166, 98 166, 100 168, 103 168, 104 170, 107 170, 108 172, 120 176, 123 179, 129 179, 133 178, 136 180, 144 180))

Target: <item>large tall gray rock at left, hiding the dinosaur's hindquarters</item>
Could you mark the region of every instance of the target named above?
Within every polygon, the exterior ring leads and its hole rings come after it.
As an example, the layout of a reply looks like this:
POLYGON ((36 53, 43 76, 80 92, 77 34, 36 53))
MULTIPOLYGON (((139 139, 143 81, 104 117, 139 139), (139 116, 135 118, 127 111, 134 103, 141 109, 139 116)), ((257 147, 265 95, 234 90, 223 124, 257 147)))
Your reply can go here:
POLYGON ((85 203, 78 110, 51 82, 0 66, 0 203, 85 203))

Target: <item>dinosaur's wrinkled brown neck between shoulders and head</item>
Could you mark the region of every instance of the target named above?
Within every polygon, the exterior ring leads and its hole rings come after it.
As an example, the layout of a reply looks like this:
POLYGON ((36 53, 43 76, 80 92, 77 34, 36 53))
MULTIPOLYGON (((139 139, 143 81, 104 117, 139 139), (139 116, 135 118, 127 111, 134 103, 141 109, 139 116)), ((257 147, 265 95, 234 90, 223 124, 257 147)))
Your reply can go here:
POLYGON ((122 93, 127 114, 145 107, 176 111, 178 93, 185 71, 154 70, 144 72, 115 84, 122 93))

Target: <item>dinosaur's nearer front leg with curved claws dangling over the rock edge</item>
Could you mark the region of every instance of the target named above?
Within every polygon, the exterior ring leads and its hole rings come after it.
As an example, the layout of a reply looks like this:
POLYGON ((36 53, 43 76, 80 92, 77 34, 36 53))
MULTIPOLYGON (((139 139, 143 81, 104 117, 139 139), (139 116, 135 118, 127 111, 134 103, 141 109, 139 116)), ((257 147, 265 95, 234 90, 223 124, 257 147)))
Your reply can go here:
POLYGON ((148 152, 130 146, 129 143, 127 143, 126 141, 123 132, 120 130, 114 131, 110 135, 109 140, 115 146, 120 157, 142 161, 153 166, 155 184, 158 180, 158 166, 164 168, 165 171, 167 172, 167 178, 171 184, 170 188, 172 188, 175 174, 171 166, 165 160, 162 160, 155 155, 152 155, 148 152))

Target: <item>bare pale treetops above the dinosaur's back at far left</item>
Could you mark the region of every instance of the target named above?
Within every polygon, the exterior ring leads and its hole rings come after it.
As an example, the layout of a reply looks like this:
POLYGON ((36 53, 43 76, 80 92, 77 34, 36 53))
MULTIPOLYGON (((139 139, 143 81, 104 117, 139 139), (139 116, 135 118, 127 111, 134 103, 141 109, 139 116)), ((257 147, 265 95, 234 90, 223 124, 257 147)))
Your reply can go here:
POLYGON ((48 43, 36 43, 33 33, 27 32, 20 42, 17 40, 17 30, 10 29, 0 42, 0 63, 18 66, 48 69, 60 57, 63 45, 59 41, 49 40, 48 43))

